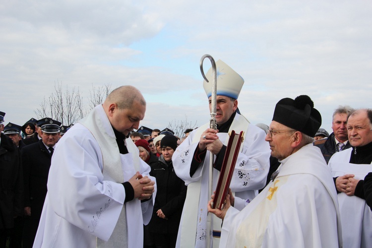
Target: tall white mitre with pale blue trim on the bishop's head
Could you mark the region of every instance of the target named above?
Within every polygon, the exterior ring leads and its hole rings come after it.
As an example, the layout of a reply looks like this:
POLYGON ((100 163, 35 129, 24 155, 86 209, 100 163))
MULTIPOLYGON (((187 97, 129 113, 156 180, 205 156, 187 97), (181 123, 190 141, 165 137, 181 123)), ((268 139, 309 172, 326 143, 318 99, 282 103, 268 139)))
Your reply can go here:
MULTIPOLYGON (((218 60, 217 69, 217 95, 238 99, 242 90, 244 79, 225 62, 218 60)), ((212 95, 212 67, 205 74, 209 82, 203 81, 203 87, 207 97, 212 95)))

